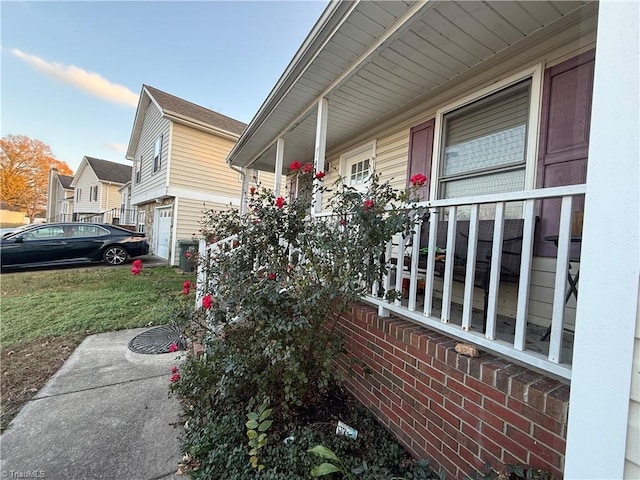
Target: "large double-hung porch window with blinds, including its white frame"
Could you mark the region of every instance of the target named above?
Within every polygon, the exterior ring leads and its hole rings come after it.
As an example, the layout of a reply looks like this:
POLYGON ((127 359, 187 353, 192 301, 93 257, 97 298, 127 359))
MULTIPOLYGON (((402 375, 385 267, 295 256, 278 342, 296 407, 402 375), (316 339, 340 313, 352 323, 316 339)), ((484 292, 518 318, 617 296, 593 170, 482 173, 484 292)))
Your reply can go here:
MULTIPOLYGON (((533 66, 438 111, 432 198, 534 187, 541 76, 541 66, 533 66)), ((481 208, 481 217, 491 215, 490 206, 481 208)), ((521 205, 512 202, 506 215, 519 217, 521 205)))

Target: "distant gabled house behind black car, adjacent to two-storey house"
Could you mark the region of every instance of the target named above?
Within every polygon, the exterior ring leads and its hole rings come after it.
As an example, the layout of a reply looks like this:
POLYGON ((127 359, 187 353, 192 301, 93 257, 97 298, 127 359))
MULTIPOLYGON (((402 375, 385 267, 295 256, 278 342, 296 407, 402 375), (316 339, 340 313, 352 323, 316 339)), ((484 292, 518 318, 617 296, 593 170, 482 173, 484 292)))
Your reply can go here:
POLYGON ((70 186, 73 220, 120 223, 120 188, 131 178, 131 166, 83 157, 70 186))

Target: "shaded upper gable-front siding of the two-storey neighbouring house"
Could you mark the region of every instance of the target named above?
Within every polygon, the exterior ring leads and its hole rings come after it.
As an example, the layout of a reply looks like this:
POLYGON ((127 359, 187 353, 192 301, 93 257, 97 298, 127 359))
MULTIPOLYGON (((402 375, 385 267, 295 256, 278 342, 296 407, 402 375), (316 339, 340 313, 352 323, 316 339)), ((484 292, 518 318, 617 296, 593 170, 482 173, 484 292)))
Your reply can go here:
POLYGON ((142 132, 138 141, 131 171, 131 203, 148 201, 154 192, 166 187, 167 164, 169 159, 169 127, 170 121, 162 117, 158 107, 151 102, 144 113, 142 132), (162 135, 162 165, 157 172, 153 171, 153 147, 159 135, 162 135), (142 157, 141 180, 135 183, 135 162, 142 157))

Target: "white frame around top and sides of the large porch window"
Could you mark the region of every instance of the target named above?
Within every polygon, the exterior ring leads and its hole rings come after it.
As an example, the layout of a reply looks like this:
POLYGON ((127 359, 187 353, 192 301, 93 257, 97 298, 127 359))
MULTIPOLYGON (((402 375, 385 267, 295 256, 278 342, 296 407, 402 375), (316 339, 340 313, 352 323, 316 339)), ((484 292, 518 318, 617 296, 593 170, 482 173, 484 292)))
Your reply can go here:
POLYGON ((542 104, 542 74, 543 65, 542 63, 538 63, 488 87, 467 95, 464 98, 456 100, 455 102, 452 102, 436 111, 433 156, 431 162, 430 200, 440 198, 440 183, 438 180, 441 170, 440 165, 442 163, 442 158, 444 157, 445 115, 529 79, 531 80, 531 99, 529 102, 527 146, 525 150, 524 189, 529 190, 535 188, 535 174, 538 158, 538 131, 540 128, 540 110, 542 104))

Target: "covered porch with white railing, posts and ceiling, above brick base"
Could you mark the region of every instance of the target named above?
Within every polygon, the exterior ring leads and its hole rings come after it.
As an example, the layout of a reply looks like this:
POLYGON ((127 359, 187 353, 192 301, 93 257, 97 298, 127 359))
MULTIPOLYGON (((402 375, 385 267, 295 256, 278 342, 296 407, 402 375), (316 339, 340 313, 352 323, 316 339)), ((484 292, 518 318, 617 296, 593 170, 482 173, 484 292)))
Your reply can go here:
MULTIPOLYGON (((375 166, 398 188, 425 173, 420 205, 430 212, 430 228, 389 245, 384 261, 395 274, 372 285, 366 300, 380 316, 409 319, 570 380, 567 478, 640 472, 638 443, 627 442, 640 411, 632 373, 640 257, 637 32, 633 2, 331 3, 227 159, 275 172, 276 196, 294 190, 286 184, 294 160, 335 171, 334 178, 348 176, 353 165, 375 166), (593 74, 581 83, 585 62, 593 74), (578 102, 584 108, 549 114, 548 99, 560 85, 553 84, 556 73, 574 82, 562 98, 589 87, 592 93, 578 102), (500 164, 495 176, 509 177, 506 187, 449 195, 454 181, 472 184, 464 182, 483 177, 488 164, 447 176, 447 122, 522 85, 528 92, 522 159, 500 164), (570 146, 554 137, 567 131, 570 146), (551 224, 541 213, 549 204, 551 224), (574 212, 584 215, 578 255, 574 212), (505 225, 514 218, 522 221, 519 267, 504 281, 505 225), (467 247, 456 259, 460 221, 467 247), (491 247, 478 257, 488 240, 480 233, 486 221, 493 222, 491 247), (484 276, 477 271, 482 261, 484 276), (456 267, 463 267, 464 281, 456 267), (576 301, 568 273, 575 282, 577 269, 576 301), (391 290, 404 294, 388 302, 383 297, 391 290), (549 332, 545 340, 540 329, 549 332), (605 447, 595 442, 603 431, 613 432, 605 447)), ((313 199, 313 215, 330 215, 323 200, 313 199)))

